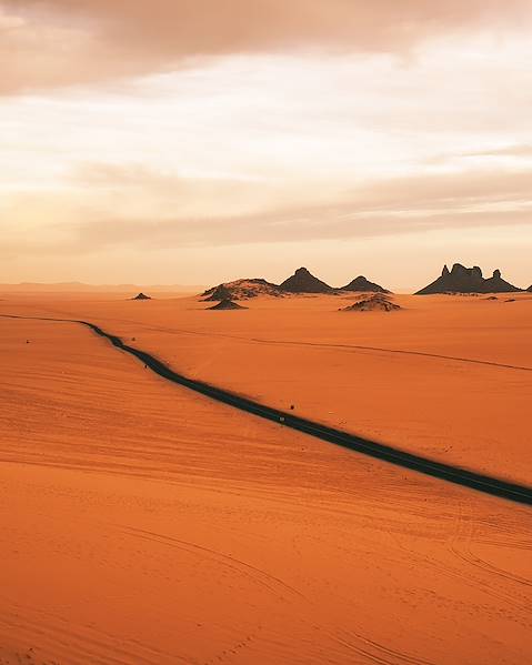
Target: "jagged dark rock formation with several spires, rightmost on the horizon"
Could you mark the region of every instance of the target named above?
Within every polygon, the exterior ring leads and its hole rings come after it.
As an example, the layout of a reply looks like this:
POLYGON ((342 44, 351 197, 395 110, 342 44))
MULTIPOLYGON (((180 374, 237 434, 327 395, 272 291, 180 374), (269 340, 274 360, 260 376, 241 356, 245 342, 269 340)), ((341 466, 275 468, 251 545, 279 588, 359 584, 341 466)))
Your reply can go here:
POLYGON ((441 276, 418 291, 416 295, 432 293, 508 293, 513 291, 521 291, 521 289, 503 280, 500 270, 495 270, 492 278, 484 280, 478 265, 464 268, 460 263, 455 263, 451 271, 444 265, 441 276))

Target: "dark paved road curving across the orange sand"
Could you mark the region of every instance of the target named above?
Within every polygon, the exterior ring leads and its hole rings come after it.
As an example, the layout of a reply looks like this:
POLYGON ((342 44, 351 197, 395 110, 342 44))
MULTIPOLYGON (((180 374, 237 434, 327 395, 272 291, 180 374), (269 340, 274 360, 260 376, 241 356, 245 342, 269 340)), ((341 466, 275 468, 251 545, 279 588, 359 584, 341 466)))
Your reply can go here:
POLYGON ((111 342, 111 344, 117 349, 135 356, 138 360, 144 363, 144 365, 150 367, 150 370, 163 379, 167 379, 172 383, 183 385, 212 400, 223 402, 224 404, 229 404, 230 406, 234 406, 235 409, 252 413, 269 421, 281 423, 285 427, 304 432, 305 434, 310 434, 311 436, 315 436, 322 441, 328 441, 329 443, 341 445, 342 447, 363 453, 371 457, 390 462, 397 466, 411 468, 413 471, 424 473, 425 475, 431 475, 450 483, 455 483, 479 492, 484 492, 485 494, 492 494, 494 496, 500 496, 518 503, 532 505, 532 487, 510 483, 508 481, 475 473, 473 471, 468 471, 459 466, 444 464, 442 462, 435 462, 433 460, 408 453, 390 445, 370 441, 369 439, 363 439, 361 436, 357 436, 355 434, 350 434, 349 432, 342 432, 341 430, 335 430, 333 427, 299 417, 290 412, 272 409, 271 406, 267 406, 264 404, 260 404, 259 402, 254 402, 253 400, 248 400, 247 397, 235 395, 230 391, 210 385, 209 383, 188 379, 187 376, 183 376, 182 374, 171 370, 154 355, 151 355, 145 351, 141 351, 140 349, 135 349, 134 346, 129 346, 119 336, 106 332, 100 326, 96 325, 94 323, 90 323, 89 321, 52 319, 44 316, 14 316, 8 314, 1 314, 0 316, 6 319, 29 319, 37 321, 79 323, 80 325, 89 328, 96 334, 111 342))

